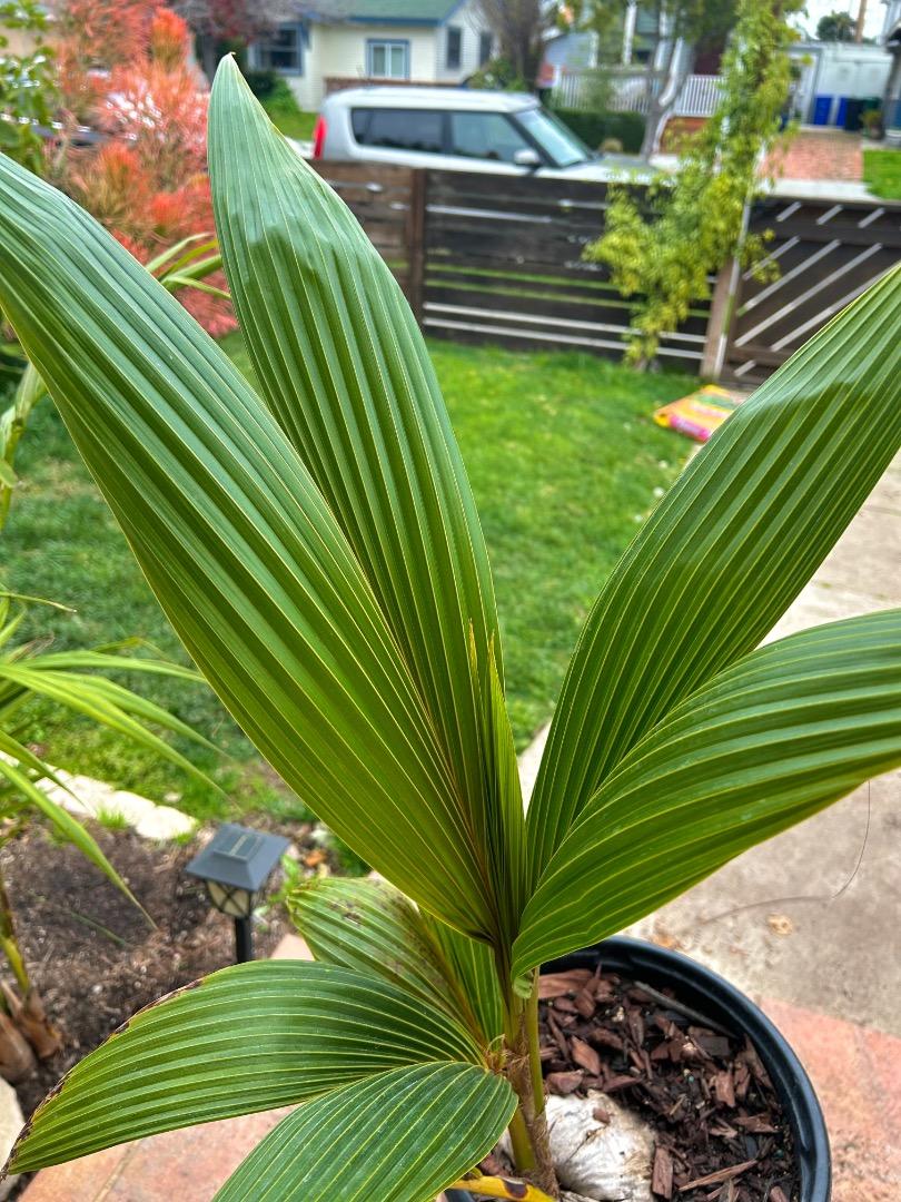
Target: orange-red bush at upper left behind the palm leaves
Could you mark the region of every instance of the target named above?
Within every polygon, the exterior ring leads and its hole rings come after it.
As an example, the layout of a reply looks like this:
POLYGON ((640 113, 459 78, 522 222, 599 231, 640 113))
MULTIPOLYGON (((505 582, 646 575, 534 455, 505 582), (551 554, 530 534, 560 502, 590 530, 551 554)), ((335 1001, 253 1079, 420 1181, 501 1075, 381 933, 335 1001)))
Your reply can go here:
MULTIPOLYGON (((141 262, 211 234, 208 93, 190 60, 186 23, 157 0, 66 0, 60 29, 70 136, 56 157, 56 183, 141 262), (77 123, 106 139, 76 145, 77 123)), ((223 286, 221 276, 208 282, 223 286)), ((177 296, 215 337, 235 328, 221 297, 192 288, 177 296)))

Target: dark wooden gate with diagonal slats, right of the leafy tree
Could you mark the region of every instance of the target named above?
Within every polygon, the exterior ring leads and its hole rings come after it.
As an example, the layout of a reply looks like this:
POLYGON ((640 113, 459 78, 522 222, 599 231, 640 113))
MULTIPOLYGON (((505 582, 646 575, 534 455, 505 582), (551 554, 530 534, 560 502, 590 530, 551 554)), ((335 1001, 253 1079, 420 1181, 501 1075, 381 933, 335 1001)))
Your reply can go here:
POLYGON ((745 272, 734 303, 724 374, 757 383, 875 282, 901 254, 901 204, 770 197, 753 232, 771 230, 777 279, 745 272))

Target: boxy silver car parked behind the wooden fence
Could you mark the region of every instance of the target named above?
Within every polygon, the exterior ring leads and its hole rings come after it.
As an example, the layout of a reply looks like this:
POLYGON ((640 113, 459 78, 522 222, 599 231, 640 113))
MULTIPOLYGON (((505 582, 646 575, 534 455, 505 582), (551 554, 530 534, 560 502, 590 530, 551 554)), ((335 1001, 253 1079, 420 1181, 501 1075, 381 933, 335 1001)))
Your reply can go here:
POLYGON ((535 96, 466 88, 333 93, 316 123, 312 156, 598 182, 631 167, 592 154, 535 96))

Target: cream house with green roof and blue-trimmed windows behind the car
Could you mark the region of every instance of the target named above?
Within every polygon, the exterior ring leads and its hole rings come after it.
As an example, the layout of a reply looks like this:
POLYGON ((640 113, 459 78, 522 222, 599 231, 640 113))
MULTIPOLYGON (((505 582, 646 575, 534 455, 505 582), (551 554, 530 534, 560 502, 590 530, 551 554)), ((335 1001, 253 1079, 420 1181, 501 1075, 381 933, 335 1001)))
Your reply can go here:
POLYGON ((459 85, 494 50, 478 0, 314 0, 253 42, 247 61, 278 71, 315 109, 341 84, 459 85))

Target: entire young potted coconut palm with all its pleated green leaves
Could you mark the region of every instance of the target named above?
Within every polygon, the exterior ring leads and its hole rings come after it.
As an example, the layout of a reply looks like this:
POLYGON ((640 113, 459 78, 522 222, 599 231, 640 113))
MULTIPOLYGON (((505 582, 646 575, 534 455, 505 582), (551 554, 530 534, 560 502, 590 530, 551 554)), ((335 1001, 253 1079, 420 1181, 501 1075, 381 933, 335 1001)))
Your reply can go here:
POLYGON ((485 546, 400 290, 229 61, 209 159, 258 393, 13 165, 0 302, 213 688, 390 883, 300 889, 317 963, 226 969, 144 1011, 12 1164, 303 1103, 220 1202, 424 1202, 508 1125, 553 1194, 542 962, 901 761, 901 614, 754 649, 901 441, 899 279, 776 373, 658 505, 585 624, 524 813, 485 546))

